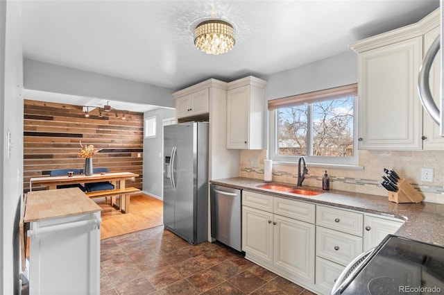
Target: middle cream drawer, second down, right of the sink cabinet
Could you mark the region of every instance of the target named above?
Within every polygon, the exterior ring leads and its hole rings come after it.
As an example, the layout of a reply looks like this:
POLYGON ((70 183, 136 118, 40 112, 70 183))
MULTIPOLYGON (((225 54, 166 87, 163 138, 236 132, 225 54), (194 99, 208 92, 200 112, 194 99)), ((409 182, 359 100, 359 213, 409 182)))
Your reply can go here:
POLYGON ((316 226, 316 255, 342 264, 362 253, 362 237, 316 226))

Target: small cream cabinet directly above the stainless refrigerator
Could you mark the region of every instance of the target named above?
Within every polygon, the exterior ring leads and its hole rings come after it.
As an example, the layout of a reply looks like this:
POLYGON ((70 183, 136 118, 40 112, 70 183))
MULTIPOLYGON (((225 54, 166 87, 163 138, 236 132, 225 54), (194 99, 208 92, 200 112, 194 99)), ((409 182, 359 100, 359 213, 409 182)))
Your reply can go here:
POLYGON ((209 100, 208 88, 179 97, 176 99, 176 118, 192 117, 209 112, 209 100))

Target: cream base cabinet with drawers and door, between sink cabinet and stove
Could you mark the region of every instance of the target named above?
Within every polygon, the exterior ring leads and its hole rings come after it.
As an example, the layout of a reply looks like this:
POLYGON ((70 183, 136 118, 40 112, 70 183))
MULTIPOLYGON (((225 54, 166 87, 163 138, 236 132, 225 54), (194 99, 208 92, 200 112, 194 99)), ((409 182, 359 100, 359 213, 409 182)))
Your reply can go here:
POLYGON ((316 290, 330 294, 348 263, 402 224, 392 217, 316 205, 316 290))

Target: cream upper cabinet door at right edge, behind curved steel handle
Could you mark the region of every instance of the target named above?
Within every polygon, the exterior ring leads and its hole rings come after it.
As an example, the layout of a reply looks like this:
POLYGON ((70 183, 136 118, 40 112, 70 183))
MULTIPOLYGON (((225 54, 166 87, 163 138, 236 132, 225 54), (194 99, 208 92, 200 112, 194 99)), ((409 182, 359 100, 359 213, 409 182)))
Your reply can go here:
MULTIPOLYGON (((424 52, 427 52, 430 45, 434 42, 435 38, 440 33, 440 27, 434 28, 434 30, 424 35, 424 52)), ((432 68, 430 69, 429 86, 432 96, 436 103, 436 106, 441 105, 440 96, 440 83, 441 83, 441 50, 436 54, 432 68)), ((441 131, 438 124, 423 111, 424 126, 422 127, 422 135, 425 140, 423 142, 425 150, 443 150, 444 149, 444 137, 441 137, 441 131)))

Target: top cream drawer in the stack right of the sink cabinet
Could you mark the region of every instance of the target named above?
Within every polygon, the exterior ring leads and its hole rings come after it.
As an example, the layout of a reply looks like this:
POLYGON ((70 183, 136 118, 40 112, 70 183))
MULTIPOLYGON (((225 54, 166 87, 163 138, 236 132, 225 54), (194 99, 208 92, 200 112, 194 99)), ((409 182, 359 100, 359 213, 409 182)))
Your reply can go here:
POLYGON ((362 237, 364 214, 318 205, 316 225, 362 237))

